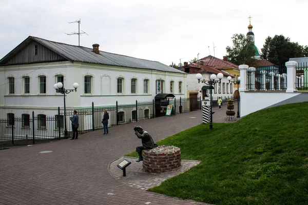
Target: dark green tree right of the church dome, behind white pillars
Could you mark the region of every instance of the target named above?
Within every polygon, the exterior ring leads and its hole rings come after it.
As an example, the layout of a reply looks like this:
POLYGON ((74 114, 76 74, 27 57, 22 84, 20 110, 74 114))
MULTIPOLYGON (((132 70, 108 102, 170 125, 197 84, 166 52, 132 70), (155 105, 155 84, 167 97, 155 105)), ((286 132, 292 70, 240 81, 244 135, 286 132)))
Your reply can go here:
POLYGON ((283 35, 275 35, 273 38, 268 36, 261 51, 262 58, 275 65, 285 64, 290 58, 304 57, 308 54, 307 46, 291 42, 290 38, 283 35))

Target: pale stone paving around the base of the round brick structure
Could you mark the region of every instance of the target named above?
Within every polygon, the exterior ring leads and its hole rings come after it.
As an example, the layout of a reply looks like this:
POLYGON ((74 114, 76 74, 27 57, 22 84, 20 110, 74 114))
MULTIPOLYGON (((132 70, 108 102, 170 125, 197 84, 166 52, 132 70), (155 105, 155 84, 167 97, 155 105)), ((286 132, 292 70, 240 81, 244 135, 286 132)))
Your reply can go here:
POLYGON ((109 172, 113 178, 117 179, 121 183, 142 190, 159 186, 168 178, 177 176, 200 163, 198 160, 182 160, 180 169, 160 174, 153 174, 143 172, 142 162, 136 162, 136 159, 137 158, 134 157, 120 157, 110 164, 109 172), (123 171, 117 167, 117 165, 124 159, 131 162, 131 164, 126 168, 125 177, 123 176, 123 171))

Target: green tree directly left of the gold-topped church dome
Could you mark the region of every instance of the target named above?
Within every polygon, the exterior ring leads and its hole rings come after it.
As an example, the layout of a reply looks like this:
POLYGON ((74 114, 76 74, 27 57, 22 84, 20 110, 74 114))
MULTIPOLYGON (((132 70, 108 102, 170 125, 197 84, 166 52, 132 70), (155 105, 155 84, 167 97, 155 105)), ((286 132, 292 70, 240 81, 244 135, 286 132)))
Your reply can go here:
POLYGON ((234 34, 232 36, 233 46, 226 47, 227 60, 236 65, 246 64, 254 65, 254 43, 252 38, 246 37, 244 34, 234 34))

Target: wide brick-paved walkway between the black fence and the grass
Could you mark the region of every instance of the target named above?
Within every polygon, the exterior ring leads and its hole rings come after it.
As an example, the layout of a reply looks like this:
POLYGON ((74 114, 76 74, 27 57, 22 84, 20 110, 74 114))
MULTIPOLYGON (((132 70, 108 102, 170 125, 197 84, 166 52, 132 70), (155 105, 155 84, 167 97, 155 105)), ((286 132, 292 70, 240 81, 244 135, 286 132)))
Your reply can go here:
MULTIPOLYGON (((233 122, 224 120, 225 110, 213 109, 214 122, 233 122)), ((201 123, 199 110, 111 127, 109 135, 98 130, 77 140, 0 150, 0 204, 205 204, 130 187, 109 173, 114 160, 140 146, 134 125, 159 141, 201 123)))

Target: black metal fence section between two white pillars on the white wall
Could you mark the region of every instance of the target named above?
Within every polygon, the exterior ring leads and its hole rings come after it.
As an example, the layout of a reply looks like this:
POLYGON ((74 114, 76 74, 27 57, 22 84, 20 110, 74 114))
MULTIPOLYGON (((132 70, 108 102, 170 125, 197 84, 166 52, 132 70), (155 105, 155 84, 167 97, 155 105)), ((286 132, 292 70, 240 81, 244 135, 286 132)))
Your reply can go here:
POLYGON ((284 91, 287 85, 285 66, 261 66, 247 69, 248 91, 284 91))

